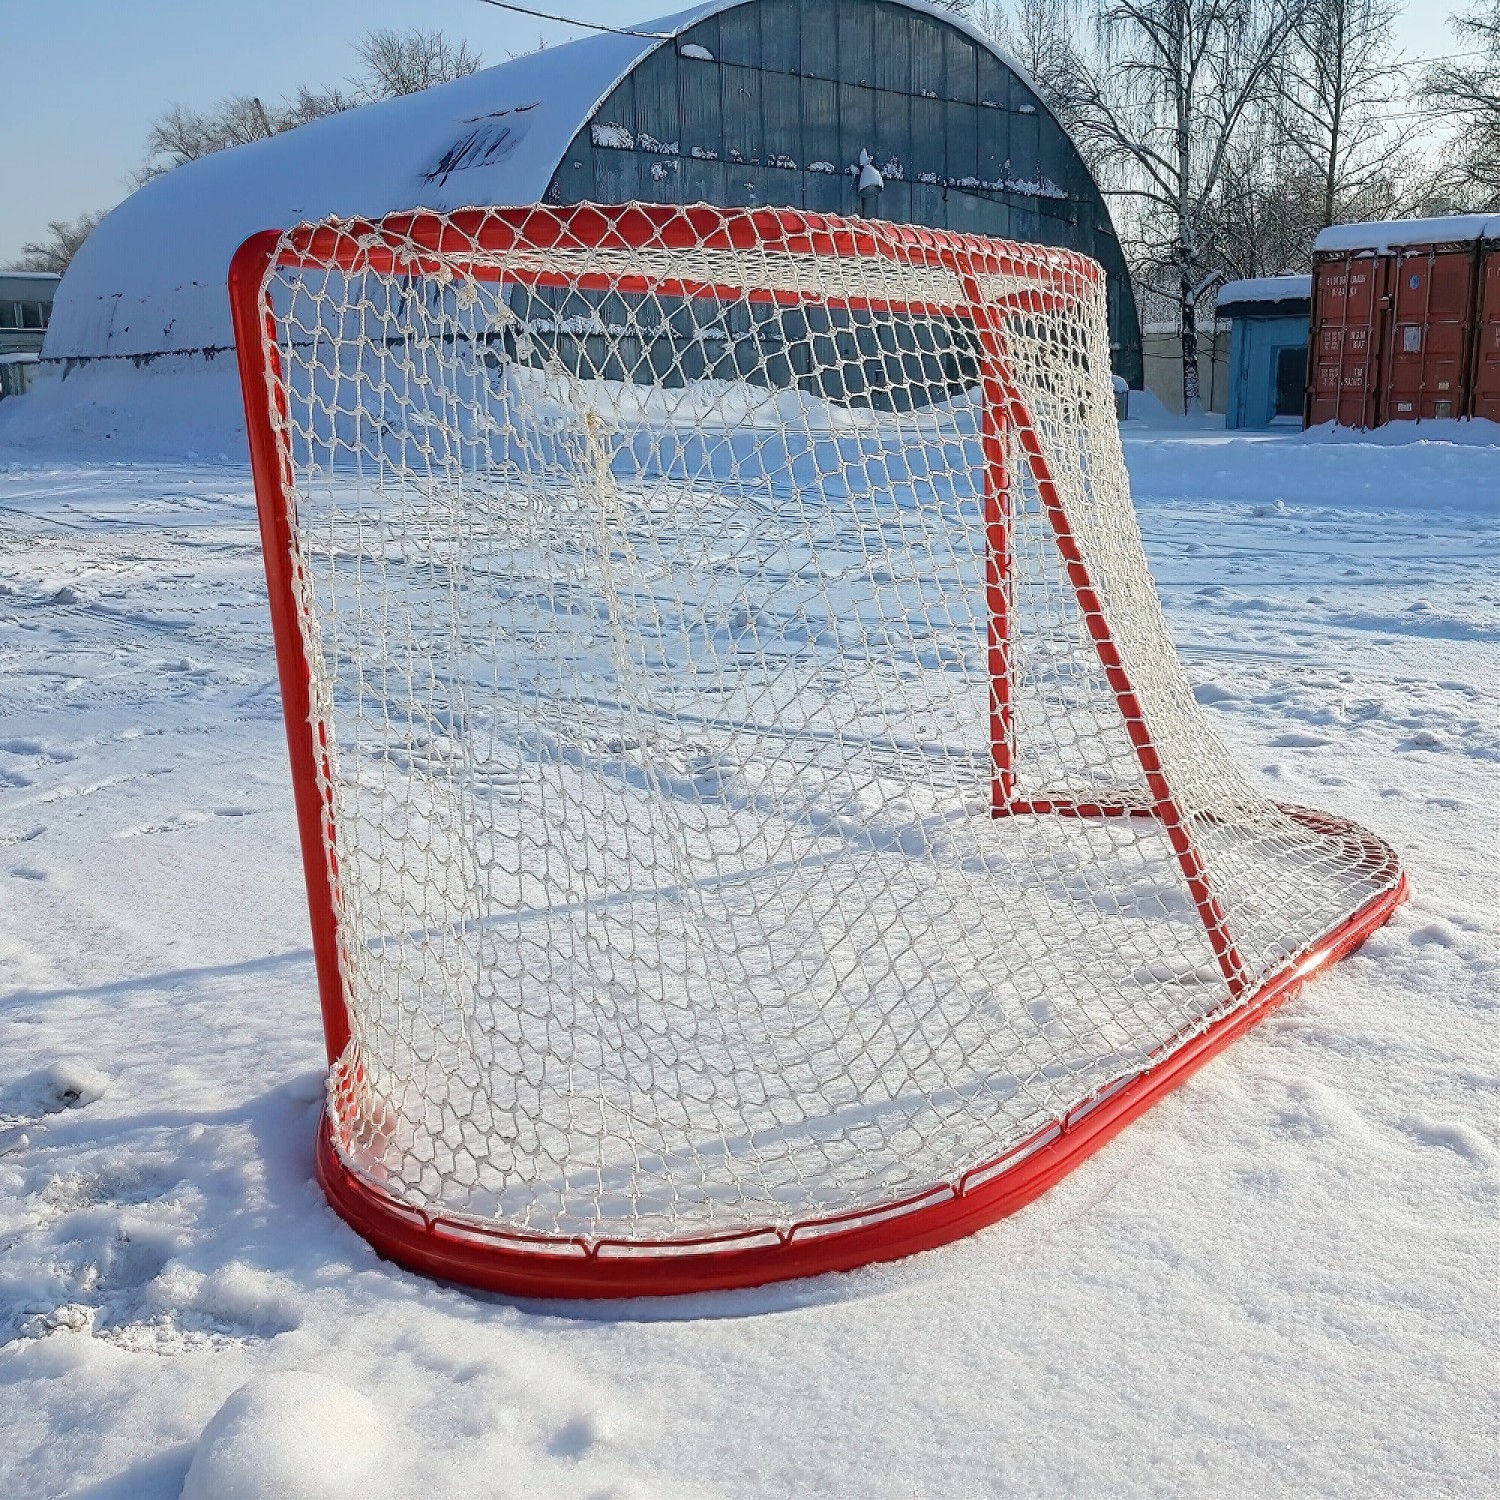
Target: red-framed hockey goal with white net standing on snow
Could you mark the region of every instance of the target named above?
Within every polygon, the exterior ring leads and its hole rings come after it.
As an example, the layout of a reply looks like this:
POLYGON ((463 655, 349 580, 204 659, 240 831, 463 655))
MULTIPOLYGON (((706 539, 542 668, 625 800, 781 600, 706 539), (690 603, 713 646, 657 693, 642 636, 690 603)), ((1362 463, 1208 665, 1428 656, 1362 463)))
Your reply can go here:
POLYGON ((393 1258, 940 1244, 1400 900, 1192 698, 1088 258, 585 204, 267 232, 231 294, 320 1176, 393 1258))

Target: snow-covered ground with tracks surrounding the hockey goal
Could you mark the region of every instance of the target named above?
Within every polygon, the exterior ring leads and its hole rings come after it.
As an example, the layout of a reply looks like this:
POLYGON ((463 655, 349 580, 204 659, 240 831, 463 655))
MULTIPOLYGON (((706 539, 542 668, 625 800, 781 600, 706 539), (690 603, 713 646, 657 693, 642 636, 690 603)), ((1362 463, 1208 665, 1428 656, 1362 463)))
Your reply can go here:
POLYGON ((244 468, 0 446, 0 1496, 1494 1494, 1500 442, 1434 430, 1126 438, 1200 700, 1395 921, 968 1242, 596 1306, 310 1182, 244 468))

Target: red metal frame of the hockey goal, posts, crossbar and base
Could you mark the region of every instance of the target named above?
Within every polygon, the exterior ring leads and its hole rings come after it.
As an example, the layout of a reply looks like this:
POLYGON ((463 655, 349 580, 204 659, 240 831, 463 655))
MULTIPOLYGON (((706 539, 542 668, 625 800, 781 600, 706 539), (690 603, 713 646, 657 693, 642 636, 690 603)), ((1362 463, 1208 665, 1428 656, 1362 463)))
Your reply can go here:
MULTIPOLYGON (((790 1227, 670 1240, 616 1240, 520 1234, 472 1220, 448 1218, 400 1203, 362 1178, 338 1152, 328 1113, 318 1132, 318 1179, 333 1208, 381 1254, 428 1275, 526 1296, 626 1298, 754 1286, 789 1276, 843 1270, 892 1260, 972 1233, 1029 1203, 1098 1150, 1161 1095, 1180 1084, 1215 1053, 1286 1000, 1314 972, 1359 946, 1406 897, 1406 876, 1388 844, 1342 819, 1284 808, 1318 832, 1358 850, 1372 882, 1386 890, 1257 987, 1234 948, 1188 820, 1173 800, 1144 723, 1126 664, 1116 648, 1095 582, 1074 542, 1046 453, 1024 400, 1006 368, 1004 312, 1020 304, 1046 312, 1096 292, 1102 268, 1064 249, 1018 246, 915 225, 846 220, 784 208, 714 208, 652 204, 530 208, 471 208, 452 214, 402 213, 380 222, 330 220, 290 232, 264 231, 246 240, 230 268, 230 300, 244 394, 250 466, 255 478, 272 632, 291 758, 292 790, 312 920, 312 945, 330 1064, 342 1056, 351 1020, 339 966, 339 872, 332 810, 320 789, 327 730, 315 722, 309 666, 297 618, 294 516, 296 483, 284 440, 285 392, 268 280, 278 267, 338 267, 376 273, 447 272, 454 262, 476 278, 500 278, 494 266, 470 260, 507 250, 747 250, 795 256, 884 258, 940 267, 956 276, 963 297, 952 304, 840 297, 838 306, 940 314, 972 322, 982 352, 984 418, 982 518, 984 590, 988 612, 992 813, 1011 816, 1154 818, 1172 846, 1230 999, 1206 1029, 1172 1040, 1136 1074, 1053 1120, 1028 1140, 952 1182, 874 1209, 807 1220, 790 1227), (466 262, 466 264, 465 264, 466 262), (1005 302, 982 294, 981 278, 1023 279, 1005 302), (1028 801, 1016 795, 1010 690, 1011 567, 1006 514, 1008 436, 1030 470, 1042 512, 1078 598, 1086 627, 1149 790, 1140 804, 1028 801)), ((506 278, 531 285, 596 291, 658 291, 680 297, 726 296, 796 304, 807 294, 620 274, 584 276, 506 267, 506 278)), ((825 302, 831 298, 824 298, 825 302)))

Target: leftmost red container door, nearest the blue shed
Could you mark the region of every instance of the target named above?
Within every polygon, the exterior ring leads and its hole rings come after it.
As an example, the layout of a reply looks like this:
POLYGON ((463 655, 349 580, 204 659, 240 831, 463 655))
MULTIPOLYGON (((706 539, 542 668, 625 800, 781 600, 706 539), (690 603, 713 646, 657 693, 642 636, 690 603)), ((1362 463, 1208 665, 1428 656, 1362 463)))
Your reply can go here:
POLYGON ((1308 426, 1336 422, 1374 428, 1380 410, 1380 351, 1388 318, 1389 261, 1346 255, 1312 267, 1312 390, 1308 426))

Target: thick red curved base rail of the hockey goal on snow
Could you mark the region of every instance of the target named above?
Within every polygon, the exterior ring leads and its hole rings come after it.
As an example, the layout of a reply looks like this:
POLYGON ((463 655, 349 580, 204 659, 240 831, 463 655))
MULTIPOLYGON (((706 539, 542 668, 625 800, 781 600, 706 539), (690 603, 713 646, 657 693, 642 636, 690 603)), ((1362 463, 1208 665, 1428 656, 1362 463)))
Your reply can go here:
MULTIPOLYGON (((1384 849, 1374 838, 1370 843, 1384 849)), ((1394 866, 1395 856, 1389 856, 1394 866)), ((898 1260, 970 1234, 1046 1192, 1137 1114, 1250 1030, 1306 978, 1358 948, 1390 916, 1406 892, 1402 874, 1392 890, 1354 912, 1306 957, 1263 984, 1246 1004, 999 1161, 969 1172, 957 1185, 938 1184, 884 1209, 789 1230, 768 1228, 648 1248, 610 1240, 528 1239, 472 1221, 423 1215, 390 1198, 345 1166, 334 1150, 327 1113, 318 1132, 318 1180, 338 1214, 380 1254, 408 1270, 514 1296, 674 1296, 898 1260)))

